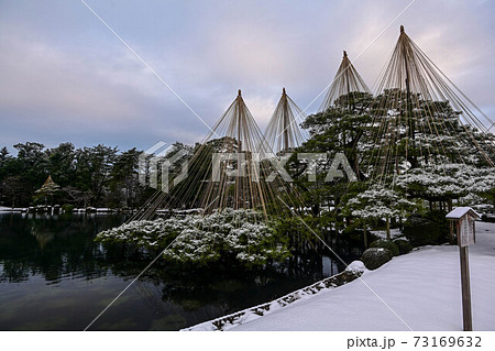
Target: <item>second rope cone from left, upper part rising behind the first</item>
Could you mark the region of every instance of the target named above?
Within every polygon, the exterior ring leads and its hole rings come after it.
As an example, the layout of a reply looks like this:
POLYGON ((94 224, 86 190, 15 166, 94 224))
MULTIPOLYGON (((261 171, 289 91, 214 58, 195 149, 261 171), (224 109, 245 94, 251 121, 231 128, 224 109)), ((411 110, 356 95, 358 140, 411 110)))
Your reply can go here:
POLYGON ((305 119, 305 112, 297 107, 283 88, 280 100, 265 131, 266 142, 274 153, 287 154, 302 144, 306 138, 301 132, 300 123, 305 119))

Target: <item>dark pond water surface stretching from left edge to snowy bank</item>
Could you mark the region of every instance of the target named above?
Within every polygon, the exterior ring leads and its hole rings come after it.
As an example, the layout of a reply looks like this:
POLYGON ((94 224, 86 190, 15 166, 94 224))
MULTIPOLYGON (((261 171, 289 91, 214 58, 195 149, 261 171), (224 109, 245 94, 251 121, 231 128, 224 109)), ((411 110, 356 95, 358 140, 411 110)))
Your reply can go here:
MULTIPOLYGON (((121 215, 0 212, 0 330, 82 330, 151 262, 94 242, 121 215)), ((158 262, 90 330, 178 330, 283 296, 339 267, 282 273, 170 272, 158 262)))

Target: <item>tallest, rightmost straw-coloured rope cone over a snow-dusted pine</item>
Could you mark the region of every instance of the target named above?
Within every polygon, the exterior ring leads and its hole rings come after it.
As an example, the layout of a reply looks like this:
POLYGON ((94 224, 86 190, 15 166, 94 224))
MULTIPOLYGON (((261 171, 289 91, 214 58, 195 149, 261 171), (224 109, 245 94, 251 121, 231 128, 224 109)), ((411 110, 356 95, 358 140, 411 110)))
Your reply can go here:
POLYGON ((406 34, 377 80, 373 122, 361 150, 367 177, 393 184, 408 169, 452 163, 494 166, 485 116, 406 34), (477 111, 476 116, 473 111, 477 111))

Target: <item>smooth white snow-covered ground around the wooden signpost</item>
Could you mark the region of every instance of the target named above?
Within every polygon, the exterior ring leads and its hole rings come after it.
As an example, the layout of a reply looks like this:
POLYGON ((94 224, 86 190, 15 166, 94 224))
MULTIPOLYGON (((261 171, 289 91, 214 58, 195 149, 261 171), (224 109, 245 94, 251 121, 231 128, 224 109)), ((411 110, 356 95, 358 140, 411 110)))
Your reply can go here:
MULTIPOLYGON (((495 330, 495 223, 470 246, 474 330, 495 330)), ((230 330, 462 330, 459 248, 425 246, 230 330), (367 286, 373 289, 373 292, 367 286), (376 294, 376 295, 375 295, 376 294)))

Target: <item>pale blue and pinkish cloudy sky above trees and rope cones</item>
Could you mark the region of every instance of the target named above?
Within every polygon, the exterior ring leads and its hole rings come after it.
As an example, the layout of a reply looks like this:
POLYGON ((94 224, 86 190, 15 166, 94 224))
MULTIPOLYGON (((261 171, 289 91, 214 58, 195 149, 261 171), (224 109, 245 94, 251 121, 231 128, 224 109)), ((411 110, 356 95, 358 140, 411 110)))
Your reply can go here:
MULTIPOLYGON (((400 24, 495 117, 495 1, 417 0, 394 22, 411 0, 85 1, 209 125, 238 89, 262 129, 283 86, 317 111, 342 50, 373 86, 400 24)), ((0 145, 145 150, 208 131, 82 1, 0 0, 0 145)))

